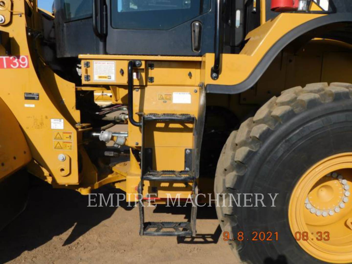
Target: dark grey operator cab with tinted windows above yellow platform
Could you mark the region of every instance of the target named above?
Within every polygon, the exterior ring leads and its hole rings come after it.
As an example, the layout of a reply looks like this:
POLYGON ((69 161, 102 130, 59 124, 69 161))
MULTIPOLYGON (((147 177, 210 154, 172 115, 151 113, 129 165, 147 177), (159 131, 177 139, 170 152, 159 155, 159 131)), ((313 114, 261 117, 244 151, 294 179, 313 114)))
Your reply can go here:
POLYGON ((213 52, 212 2, 55 0, 57 56, 201 56, 213 52))

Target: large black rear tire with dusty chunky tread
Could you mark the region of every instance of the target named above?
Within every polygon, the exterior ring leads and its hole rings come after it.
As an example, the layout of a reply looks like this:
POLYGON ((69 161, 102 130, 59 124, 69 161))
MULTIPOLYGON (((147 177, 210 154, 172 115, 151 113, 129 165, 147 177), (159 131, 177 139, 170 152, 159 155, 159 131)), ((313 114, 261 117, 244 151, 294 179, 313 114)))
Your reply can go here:
POLYGON ((230 233, 229 244, 243 262, 323 263, 295 241, 288 207, 305 171, 327 156, 352 152, 351 98, 352 84, 347 83, 291 88, 270 99, 228 138, 216 170, 215 193, 261 193, 267 206, 230 207, 229 196, 220 196, 220 205, 225 204, 216 207, 220 226, 230 233), (267 194, 275 193, 276 207, 270 207, 267 194), (278 241, 251 241, 254 231, 278 232, 278 241), (245 239, 231 241, 238 232, 245 239))

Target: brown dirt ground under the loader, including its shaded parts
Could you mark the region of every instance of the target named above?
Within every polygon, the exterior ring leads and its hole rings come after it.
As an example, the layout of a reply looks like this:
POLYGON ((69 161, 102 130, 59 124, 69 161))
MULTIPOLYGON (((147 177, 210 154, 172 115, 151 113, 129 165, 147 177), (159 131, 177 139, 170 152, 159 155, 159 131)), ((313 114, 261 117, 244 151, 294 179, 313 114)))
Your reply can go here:
MULTIPOLYGON (((108 197, 119 190, 97 192, 108 197)), ((190 241, 140 237, 137 207, 87 205, 87 196, 52 189, 33 177, 27 208, 0 231, 0 263, 238 263, 222 240, 214 207, 198 210, 198 235, 190 241)), ((189 211, 171 214, 163 206, 145 210, 147 221, 182 221, 189 211)))

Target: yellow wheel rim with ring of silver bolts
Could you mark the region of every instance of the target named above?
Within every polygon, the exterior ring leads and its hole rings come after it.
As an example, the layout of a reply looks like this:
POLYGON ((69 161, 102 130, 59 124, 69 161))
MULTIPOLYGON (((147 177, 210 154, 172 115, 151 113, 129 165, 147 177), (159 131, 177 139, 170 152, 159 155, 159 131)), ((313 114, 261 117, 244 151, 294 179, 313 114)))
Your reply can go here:
POLYGON ((297 243, 330 263, 352 262, 352 153, 323 159, 298 181, 289 203, 297 243))

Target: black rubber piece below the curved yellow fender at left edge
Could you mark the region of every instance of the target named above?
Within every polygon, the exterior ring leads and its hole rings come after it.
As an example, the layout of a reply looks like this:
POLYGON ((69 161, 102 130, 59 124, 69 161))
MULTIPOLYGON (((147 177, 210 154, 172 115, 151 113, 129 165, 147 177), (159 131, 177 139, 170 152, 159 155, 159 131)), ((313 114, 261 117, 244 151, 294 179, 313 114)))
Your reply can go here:
POLYGON ((28 174, 20 170, 0 181, 0 230, 26 208, 28 174))

